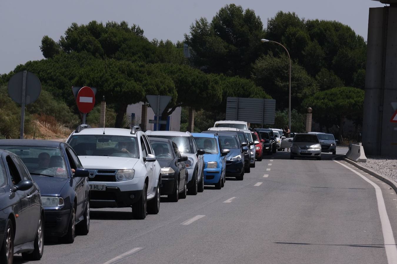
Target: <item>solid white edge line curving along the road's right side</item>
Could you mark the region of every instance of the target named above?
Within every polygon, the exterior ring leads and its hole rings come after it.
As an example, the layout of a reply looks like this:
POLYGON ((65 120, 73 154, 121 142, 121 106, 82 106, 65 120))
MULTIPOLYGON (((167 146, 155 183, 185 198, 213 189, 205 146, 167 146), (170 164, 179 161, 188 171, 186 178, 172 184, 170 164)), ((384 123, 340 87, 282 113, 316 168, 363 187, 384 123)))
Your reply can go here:
POLYGON ((380 223, 382 225, 382 233, 383 233, 383 239, 384 239, 384 244, 385 244, 384 246, 385 246, 385 251, 386 251, 386 256, 387 256, 387 262, 389 264, 397 263, 397 247, 395 245, 393 230, 391 229, 389 216, 387 215, 385 201, 383 199, 383 194, 382 194, 382 189, 378 185, 376 185, 374 182, 372 182, 371 180, 368 180, 364 175, 362 175, 358 171, 351 169, 349 166, 347 166, 339 161, 336 161, 335 158, 332 158, 332 160, 335 161, 336 163, 339 163, 343 167, 346 167, 349 170, 353 171, 354 173, 356 173, 358 176, 360 176, 366 182, 370 183, 375 188, 376 200, 378 201, 378 211, 379 211, 380 223))

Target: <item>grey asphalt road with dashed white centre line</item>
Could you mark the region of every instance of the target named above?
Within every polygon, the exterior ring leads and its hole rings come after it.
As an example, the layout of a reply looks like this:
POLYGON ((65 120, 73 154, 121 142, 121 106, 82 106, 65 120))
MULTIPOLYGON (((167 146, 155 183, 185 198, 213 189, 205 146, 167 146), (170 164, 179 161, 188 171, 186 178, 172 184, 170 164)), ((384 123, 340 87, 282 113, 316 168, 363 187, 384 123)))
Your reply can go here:
POLYGON ((395 263, 395 243, 384 239, 397 237, 395 192, 337 156, 289 160, 277 152, 222 190, 206 186, 177 203, 162 197, 160 213, 145 220, 131 220, 128 209, 93 209, 87 236, 46 241, 42 260, 29 263, 395 263), (363 178, 380 187, 378 198, 363 178))

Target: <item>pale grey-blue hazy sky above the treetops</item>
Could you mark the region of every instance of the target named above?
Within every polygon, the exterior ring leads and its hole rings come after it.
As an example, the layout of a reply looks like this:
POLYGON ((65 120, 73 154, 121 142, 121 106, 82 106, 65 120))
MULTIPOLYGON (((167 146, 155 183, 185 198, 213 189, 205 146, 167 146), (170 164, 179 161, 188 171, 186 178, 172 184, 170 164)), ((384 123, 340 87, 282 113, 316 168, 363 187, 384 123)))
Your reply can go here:
POLYGON ((295 12, 305 19, 336 20, 367 38, 368 9, 384 4, 372 0, 0 0, 0 74, 27 61, 43 59, 41 39, 58 41, 76 22, 127 21, 137 24, 152 40, 183 40, 189 26, 200 17, 211 21, 226 4, 253 9, 264 27, 278 11, 295 12))

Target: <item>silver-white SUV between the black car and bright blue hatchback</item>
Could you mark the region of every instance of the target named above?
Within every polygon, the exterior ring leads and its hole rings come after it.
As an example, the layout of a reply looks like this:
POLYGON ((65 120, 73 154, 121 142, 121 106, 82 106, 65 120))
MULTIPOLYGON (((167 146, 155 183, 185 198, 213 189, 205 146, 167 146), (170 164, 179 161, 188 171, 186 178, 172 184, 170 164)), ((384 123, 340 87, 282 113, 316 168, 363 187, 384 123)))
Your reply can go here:
POLYGON ((187 176, 187 191, 191 195, 204 191, 204 150, 197 148, 196 141, 191 133, 179 131, 146 131, 148 137, 160 137, 171 139, 179 148, 183 156, 187 156, 185 161, 187 176))

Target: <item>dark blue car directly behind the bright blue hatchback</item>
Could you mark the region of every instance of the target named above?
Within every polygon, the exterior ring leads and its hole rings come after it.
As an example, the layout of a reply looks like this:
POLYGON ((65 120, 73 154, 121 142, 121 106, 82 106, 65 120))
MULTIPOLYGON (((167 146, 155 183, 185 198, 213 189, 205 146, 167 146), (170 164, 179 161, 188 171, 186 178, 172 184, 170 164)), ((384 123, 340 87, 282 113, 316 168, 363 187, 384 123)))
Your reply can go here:
POLYGON ((239 137, 235 131, 207 130, 201 133, 211 133, 218 135, 222 144, 222 148, 230 150, 229 154, 226 156, 226 176, 236 177, 237 180, 243 180, 245 173, 244 152, 248 151, 247 144, 245 144, 245 146, 241 146, 239 137))

